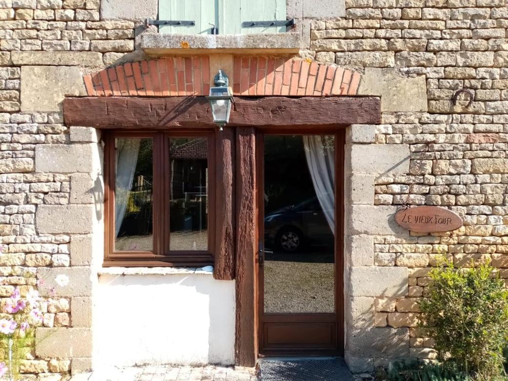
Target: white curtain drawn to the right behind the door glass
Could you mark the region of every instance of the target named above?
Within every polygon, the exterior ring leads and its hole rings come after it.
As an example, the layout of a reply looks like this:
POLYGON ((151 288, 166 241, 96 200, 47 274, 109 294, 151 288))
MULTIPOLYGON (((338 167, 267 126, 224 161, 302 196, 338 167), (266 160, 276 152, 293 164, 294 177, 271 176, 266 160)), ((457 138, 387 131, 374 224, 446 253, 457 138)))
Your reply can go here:
POLYGON ((303 145, 317 199, 335 234, 335 141, 333 136, 304 135, 303 145))

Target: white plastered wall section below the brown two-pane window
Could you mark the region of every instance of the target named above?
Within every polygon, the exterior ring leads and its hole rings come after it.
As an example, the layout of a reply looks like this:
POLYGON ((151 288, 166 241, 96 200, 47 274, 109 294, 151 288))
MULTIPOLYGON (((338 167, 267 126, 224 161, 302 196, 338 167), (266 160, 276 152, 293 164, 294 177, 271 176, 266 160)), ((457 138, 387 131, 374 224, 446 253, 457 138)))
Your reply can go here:
POLYGON ((234 364, 235 282, 211 274, 101 274, 94 369, 234 364))

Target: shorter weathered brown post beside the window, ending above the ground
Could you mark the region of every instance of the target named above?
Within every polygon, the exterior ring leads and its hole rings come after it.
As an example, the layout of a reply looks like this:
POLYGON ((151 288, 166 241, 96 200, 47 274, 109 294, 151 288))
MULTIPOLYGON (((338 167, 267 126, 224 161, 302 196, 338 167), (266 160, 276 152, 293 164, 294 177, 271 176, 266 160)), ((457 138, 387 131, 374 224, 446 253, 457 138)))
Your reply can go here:
POLYGON ((215 279, 235 278, 235 130, 217 132, 215 143, 215 279))

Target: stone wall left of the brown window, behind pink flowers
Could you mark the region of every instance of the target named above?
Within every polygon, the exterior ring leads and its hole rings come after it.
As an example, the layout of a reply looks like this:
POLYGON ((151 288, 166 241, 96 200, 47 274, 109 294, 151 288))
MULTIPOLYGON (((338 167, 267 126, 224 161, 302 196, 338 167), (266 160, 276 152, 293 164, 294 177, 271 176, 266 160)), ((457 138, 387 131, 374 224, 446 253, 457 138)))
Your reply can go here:
POLYGON ((35 353, 21 364, 26 380, 91 368, 102 146, 96 130, 63 124, 61 102, 86 94, 83 74, 135 59, 134 22, 102 20, 99 7, 0 0, 0 297, 39 282, 47 300, 35 353), (58 274, 69 276, 67 287, 56 286, 58 274))

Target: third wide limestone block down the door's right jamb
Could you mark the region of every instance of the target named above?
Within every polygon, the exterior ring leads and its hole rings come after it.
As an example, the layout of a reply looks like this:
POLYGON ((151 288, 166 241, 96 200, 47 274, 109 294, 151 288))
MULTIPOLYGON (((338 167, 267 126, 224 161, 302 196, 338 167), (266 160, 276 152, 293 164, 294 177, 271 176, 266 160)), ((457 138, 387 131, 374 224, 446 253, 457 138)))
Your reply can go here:
POLYGON ((404 297, 407 295, 407 275, 406 267, 352 267, 350 295, 404 297))

